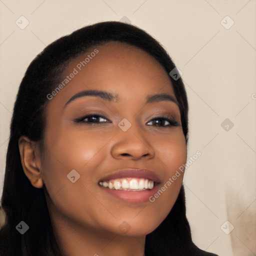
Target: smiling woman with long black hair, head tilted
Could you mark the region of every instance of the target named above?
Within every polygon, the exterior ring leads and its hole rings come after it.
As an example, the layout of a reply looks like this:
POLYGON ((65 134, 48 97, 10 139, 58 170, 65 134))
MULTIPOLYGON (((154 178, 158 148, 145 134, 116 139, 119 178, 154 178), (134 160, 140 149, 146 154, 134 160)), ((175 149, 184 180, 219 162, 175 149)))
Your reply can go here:
POLYGON ((153 37, 117 21, 36 56, 11 120, 1 255, 215 255, 185 216, 188 106, 174 68, 153 37))

